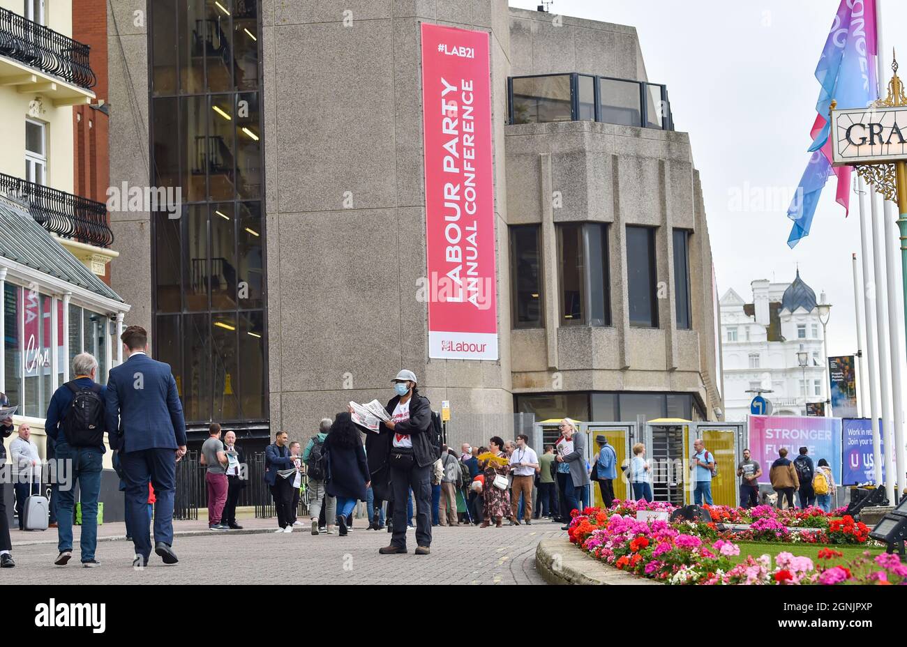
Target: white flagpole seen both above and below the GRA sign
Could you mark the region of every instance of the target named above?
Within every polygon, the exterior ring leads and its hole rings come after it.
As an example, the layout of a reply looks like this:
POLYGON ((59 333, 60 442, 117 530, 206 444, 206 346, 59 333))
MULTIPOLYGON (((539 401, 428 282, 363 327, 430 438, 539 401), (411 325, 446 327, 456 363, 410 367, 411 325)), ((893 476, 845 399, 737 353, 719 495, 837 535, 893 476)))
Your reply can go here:
MULTIPOLYGON (((876 37, 876 82, 879 84, 879 98, 883 98, 886 94, 885 92, 885 77, 887 76, 884 73, 884 63, 883 63, 883 52, 884 49, 884 39, 882 33, 882 0, 876 0, 875 2, 875 37, 876 37)), ((897 97, 895 97, 897 101, 897 97)), ((904 472, 904 450, 903 450, 903 391, 902 391, 902 374, 901 374, 901 362, 903 355, 901 352, 901 335, 900 335, 900 313, 898 308, 898 295, 897 288, 895 286, 895 281, 898 275, 898 268, 896 266, 896 257, 897 253, 897 234, 894 231, 895 222, 894 214, 892 213, 892 204, 888 200, 881 196, 882 205, 883 205, 883 221, 882 226, 884 229, 885 237, 885 259, 886 259, 886 274, 887 274, 887 285, 888 285, 888 299, 887 299, 887 310, 888 310, 888 333, 889 333, 889 343, 891 344, 891 368, 892 368, 892 399, 893 399, 893 417, 892 417, 892 426, 888 426, 887 410, 885 424, 883 424, 883 429, 891 430, 888 433, 888 438, 891 439, 889 446, 885 449, 884 456, 884 465, 885 465, 885 493, 888 496, 889 502, 892 505, 897 504, 897 497, 895 497, 894 483, 897 481, 903 486, 903 478, 900 478, 904 472), (892 447, 893 443, 893 447, 892 447), (893 451, 892 451, 893 449, 893 451), (896 468, 892 464, 892 453, 897 455, 896 458, 896 468)), ((873 198, 874 203, 874 198, 873 198)), ((876 243, 876 249, 878 249, 878 244, 876 243)), ((880 343, 880 345, 882 345, 880 343)), ((887 391, 887 390, 884 390, 887 391)))

